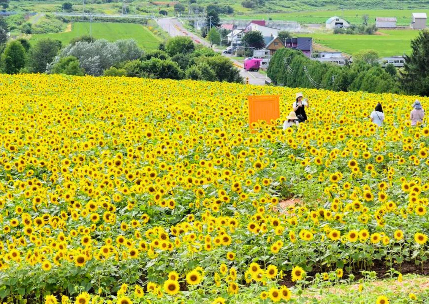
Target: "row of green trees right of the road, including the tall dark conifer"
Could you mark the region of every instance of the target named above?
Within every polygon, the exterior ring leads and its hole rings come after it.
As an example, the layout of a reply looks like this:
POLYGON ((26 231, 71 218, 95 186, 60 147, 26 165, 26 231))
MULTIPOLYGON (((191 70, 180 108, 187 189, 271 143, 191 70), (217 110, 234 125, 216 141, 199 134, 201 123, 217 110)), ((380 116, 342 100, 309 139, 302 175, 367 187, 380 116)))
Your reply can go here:
POLYGON ((267 75, 273 84, 334 91, 392 92, 429 95, 429 31, 420 31, 411 41, 412 52, 404 68, 382 68, 378 56, 361 52, 344 66, 307 58, 293 49, 280 49, 272 56, 267 75))

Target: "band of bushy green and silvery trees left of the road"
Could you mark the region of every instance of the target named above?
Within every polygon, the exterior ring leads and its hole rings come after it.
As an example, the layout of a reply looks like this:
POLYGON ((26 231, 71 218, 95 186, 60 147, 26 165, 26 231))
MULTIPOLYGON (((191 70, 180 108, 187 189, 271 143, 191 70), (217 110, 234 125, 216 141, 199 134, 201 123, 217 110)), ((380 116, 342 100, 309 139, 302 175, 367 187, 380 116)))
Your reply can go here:
POLYGON ((41 39, 7 43, 0 18, 0 73, 48 73, 92 76, 193 79, 242 83, 233 62, 189 37, 175 37, 157 50, 144 52, 133 39, 110 42, 83 36, 62 46, 41 39))

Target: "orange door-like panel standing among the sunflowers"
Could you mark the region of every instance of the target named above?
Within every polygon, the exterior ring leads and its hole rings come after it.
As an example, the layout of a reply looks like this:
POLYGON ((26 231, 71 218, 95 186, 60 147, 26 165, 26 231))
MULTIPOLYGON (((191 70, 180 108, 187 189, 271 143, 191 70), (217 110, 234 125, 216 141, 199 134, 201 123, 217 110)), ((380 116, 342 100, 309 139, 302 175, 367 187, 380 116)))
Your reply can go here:
POLYGON ((249 125, 258 120, 276 120, 280 117, 280 95, 251 95, 249 100, 249 125))

